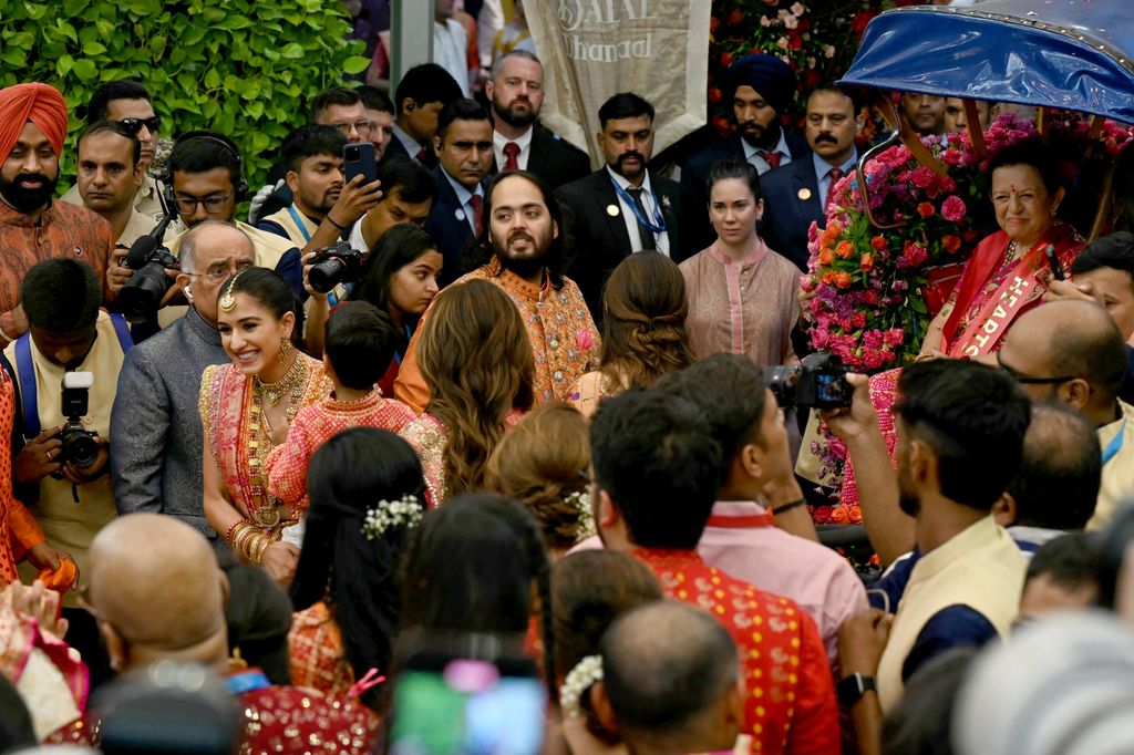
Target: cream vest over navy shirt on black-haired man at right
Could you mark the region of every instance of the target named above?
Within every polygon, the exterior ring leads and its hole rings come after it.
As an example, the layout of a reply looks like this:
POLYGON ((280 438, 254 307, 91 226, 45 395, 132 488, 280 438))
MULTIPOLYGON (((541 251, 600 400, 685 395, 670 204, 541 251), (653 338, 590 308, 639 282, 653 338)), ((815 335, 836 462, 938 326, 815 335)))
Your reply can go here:
POLYGON ((878 667, 882 711, 894 710, 905 692, 902 667, 922 629, 939 611, 967 605, 1008 634, 1019 610, 1027 561, 989 515, 921 557, 898 603, 890 638, 878 667))

